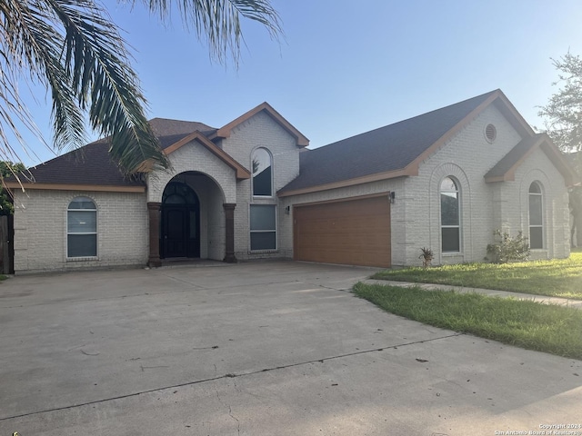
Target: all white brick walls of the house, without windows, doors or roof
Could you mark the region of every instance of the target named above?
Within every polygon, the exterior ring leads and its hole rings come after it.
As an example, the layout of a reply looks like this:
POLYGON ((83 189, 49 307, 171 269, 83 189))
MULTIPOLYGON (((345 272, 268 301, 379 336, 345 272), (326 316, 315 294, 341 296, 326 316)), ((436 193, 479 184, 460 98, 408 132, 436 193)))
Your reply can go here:
MULTIPOLYGON (((353 199, 390 192, 392 264, 419 265, 420 248, 428 247, 435 264, 479 262, 496 229, 512 235, 529 232, 528 189, 542 187, 544 247, 537 259, 569 255, 567 187, 565 179, 540 148, 528 154, 515 180, 486 183, 485 174, 522 140, 507 118, 489 104, 425 160, 418 174, 278 198, 276 191, 299 175, 301 148, 297 138, 264 111, 236 124, 216 145, 252 172, 252 155, 264 148, 272 156, 272 197, 254 197, 252 181, 237 178, 236 169, 194 140, 169 154, 172 170, 151 174, 146 193, 105 193, 29 189, 15 191, 15 272, 68 270, 118 265, 145 265, 150 247, 147 203, 161 203, 167 183, 176 177, 196 193, 200 206, 200 257, 223 260, 226 255, 225 203, 234 211, 234 253, 239 260, 293 257, 293 207, 353 199), (487 141, 487 124, 497 137, 487 141), (441 253, 440 193, 443 178, 459 185, 459 253, 441 253), (97 208, 97 257, 66 258, 66 209, 76 196, 93 199, 97 208), (276 206, 276 250, 250 250, 250 207, 276 206)), ((306 152, 308 153, 308 152, 306 152)), ((240 169, 240 166, 238 166, 240 169)))

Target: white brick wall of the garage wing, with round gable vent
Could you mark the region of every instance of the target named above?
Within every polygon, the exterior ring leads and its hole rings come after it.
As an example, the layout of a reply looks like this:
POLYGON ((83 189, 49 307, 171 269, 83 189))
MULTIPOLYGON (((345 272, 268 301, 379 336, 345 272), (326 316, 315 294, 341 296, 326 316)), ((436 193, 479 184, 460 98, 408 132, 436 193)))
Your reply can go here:
MULTIPOLYGON (((527 157, 516 172, 515 182, 485 182, 485 174, 520 141, 503 114, 490 105, 428 156, 420 164, 417 176, 286 197, 280 207, 394 191, 396 203, 390 211, 393 265, 419 266, 421 247, 433 250, 434 264, 480 262, 487 254, 487 244, 494 242, 495 229, 528 234, 527 191, 531 182, 538 181, 544 187, 546 245, 544 250, 533 251, 532 257, 567 257, 567 188, 544 152, 537 150, 527 157), (485 137, 487 124, 497 128, 493 144, 485 137), (460 253, 441 253, 439 186, 449 175, 460 188, 460 253)), ((280 240, 285 253, 292 253, 292 217, 286 223, 289 225, 281 232, 280 240)))

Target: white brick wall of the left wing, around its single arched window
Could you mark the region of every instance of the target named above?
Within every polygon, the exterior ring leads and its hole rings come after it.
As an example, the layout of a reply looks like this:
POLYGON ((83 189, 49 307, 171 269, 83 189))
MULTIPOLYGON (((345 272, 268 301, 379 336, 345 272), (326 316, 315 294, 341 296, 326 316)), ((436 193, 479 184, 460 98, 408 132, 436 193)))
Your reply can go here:
POLYGON ((15 191, 15 273, 147 262, 145 193, 15 191), (97 259, 66 259, 66 210, 78 196, 97 208, 97 259))

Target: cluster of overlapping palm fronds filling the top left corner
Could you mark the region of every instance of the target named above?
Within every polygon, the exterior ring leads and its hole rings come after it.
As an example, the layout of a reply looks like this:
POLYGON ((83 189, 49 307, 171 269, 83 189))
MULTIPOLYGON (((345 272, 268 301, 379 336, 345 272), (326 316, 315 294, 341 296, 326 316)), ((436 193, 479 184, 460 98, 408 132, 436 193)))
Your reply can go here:
POLYGON ((18 79, 51 90, 55 148, 86 143, 89 123, 111 142, 110 155, 125 173, 166 168, 168 161, 147 124, 146 99, 129 66, 125 41, 93 0, 0 1, 0 140, 9 147, 4 128, 17 134, 10 114, 27 126, 32 119, 18 111, 18 79), (4 87, 3 87, 4 86, 4 87), (3 98, 2 94, 11 98, 3 98))

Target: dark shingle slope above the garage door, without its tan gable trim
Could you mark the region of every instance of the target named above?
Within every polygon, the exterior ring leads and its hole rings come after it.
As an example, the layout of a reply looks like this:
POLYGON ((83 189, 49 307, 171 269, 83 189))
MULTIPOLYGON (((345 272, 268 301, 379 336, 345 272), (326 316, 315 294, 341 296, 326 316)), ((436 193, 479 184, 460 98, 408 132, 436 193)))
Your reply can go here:
POLYGON ((495 93, 306 151, 299 155, 299 176, 279 192, 402 170, 495 93))

